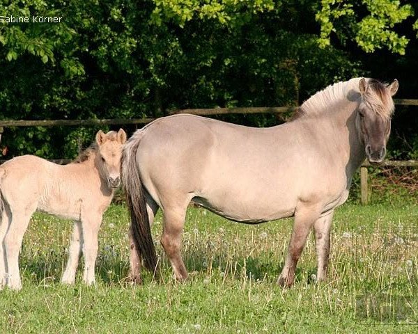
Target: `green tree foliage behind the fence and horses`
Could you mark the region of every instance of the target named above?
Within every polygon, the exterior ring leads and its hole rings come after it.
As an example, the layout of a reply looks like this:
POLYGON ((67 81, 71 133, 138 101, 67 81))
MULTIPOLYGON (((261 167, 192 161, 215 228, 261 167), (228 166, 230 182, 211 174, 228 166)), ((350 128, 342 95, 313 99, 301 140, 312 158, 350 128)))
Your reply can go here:
MULTIPOLYGON (((0 23, 0 117, 141 118, 297 104, 334 81, 373 72, 362 49, 403 54, 415 38, 397 30, 408 22, 413 31, 411 3, 357 2, 5 0, 0 15, 63 19, 0 23)), ((9 156, 72 157, 95 131, 6 129, 1 145, 9 156)))

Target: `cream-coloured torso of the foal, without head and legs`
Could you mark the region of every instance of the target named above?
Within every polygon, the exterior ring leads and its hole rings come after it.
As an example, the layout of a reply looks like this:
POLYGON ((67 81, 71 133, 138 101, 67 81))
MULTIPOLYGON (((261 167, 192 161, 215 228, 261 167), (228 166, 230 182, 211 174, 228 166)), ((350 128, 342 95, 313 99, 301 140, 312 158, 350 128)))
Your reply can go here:
POLYGON ((106 205, 111 199, 100 194, 100 177, 93 164, 61 166, 24 155, 3 164, 0 177, 1 196, 13 212, 42 211, 79 220, 82 205, 100 201, 106 205))

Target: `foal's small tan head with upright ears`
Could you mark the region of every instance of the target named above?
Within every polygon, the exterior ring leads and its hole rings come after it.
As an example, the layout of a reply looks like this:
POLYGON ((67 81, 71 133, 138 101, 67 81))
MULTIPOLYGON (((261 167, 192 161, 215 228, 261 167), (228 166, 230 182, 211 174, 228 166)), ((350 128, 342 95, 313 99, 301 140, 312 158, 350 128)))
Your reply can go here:
POLYGON ((109 131, 107 134, 100 130, 95 140, 98 144, 96 166, 99 173, 107 180, 109 188, 117 188, 121 184, 122 145, 126 141, 126 133, 123 129, 118 132, 109 131))

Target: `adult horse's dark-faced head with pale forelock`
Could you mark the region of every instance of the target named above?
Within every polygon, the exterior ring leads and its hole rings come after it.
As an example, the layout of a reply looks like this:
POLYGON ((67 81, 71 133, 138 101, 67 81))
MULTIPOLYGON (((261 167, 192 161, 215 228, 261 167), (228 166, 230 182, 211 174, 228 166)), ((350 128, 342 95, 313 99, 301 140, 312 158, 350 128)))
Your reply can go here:
POLYGON ((376 79, 360 79, 362 95, 357 109, 356 125, 360 141, 364 143, 366 157, 371 164, 380 164, 386 155, 390 134, 390 121, 394 111, 392 96, 398 90, 398 81, 385 85, 376 79))

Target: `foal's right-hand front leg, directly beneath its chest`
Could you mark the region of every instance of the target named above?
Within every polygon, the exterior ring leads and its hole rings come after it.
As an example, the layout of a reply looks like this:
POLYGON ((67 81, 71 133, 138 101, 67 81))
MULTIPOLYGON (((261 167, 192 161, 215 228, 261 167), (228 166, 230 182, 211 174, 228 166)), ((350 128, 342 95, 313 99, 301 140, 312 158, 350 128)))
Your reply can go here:
POLYGON ((102 216, 86 216, 82 218, 84 273, 83 281, 86 285, 95 283, 95 260, 98 256, 98 233, 102 224, 102 216))

